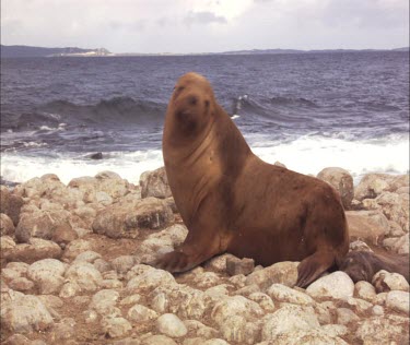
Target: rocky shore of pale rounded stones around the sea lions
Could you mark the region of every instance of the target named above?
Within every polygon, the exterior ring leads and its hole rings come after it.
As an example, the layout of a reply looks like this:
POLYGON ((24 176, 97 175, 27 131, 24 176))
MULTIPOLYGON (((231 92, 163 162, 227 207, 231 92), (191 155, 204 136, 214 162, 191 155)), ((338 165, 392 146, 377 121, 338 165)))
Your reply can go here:
MULTIPOLYGON (((409 253, 409 176, 341 168, 351 250, 409 253)), ((2 344, 408 344, 409 284, 344 272, 293 287, 297 262, 232 254, 172 275, 149 262, 187 235, 164 169, 134 186, 115 172, 1 186, 2 344), (377 283, 377 284, 376 284, 377 283)))

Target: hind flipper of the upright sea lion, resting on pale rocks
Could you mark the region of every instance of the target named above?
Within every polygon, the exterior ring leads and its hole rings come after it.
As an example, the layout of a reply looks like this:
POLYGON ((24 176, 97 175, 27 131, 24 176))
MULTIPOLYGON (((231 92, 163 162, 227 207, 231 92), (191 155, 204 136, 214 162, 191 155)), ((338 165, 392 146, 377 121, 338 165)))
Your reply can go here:
POLYGON ((305 287, 317 279, 321 273, 335 263, 335 254, 330 251, 316 251, 303 259, 297 266, 296 286, 305 287))

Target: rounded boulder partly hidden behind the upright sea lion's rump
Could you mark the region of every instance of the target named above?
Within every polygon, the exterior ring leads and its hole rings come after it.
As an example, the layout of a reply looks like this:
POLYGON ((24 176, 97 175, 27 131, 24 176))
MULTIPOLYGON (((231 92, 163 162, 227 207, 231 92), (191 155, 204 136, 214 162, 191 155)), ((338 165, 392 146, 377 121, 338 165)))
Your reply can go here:
POLYGON ((317 175, 317 178, 332 186, 339 192, 343 207, 350 209, 354 190, 353 178, 348 170, 337 167, 325 168, 317 175))

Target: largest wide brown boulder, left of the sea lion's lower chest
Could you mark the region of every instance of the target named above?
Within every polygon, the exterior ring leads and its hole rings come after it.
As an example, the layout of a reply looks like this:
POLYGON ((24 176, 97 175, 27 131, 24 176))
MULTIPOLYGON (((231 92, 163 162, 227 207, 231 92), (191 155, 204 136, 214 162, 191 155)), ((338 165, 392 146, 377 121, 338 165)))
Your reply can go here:
POLYGON ((107 206, 97 213, 92 227, 94 233, 112 238, 133 238, 139 229, 160 229, 172 222, 173 211, 164 201, 147 198, 107 206))

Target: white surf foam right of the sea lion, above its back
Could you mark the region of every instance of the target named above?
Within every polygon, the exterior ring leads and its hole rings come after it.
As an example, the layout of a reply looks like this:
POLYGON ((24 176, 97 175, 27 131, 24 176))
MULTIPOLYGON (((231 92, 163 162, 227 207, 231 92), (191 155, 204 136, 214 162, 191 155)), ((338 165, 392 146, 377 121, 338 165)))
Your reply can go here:
POLYGON ((408 135, 371 141, 306 135, 285 144, 255 143, 253 151, 268 163, 279 160, 302 174, 317 175, 326 167, 341 167, 358 179, 366 172, 409 171, 408 135))

